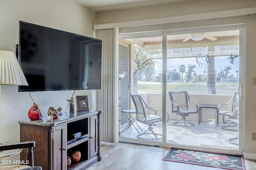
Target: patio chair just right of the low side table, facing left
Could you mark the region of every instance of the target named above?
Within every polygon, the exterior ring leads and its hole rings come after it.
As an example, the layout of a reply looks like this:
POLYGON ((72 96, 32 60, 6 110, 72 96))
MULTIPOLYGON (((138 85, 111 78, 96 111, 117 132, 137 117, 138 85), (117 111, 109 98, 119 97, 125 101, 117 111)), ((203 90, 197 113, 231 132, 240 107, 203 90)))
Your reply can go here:
MULTIPOLYGON (((226 130, 232 130, 232 131, 238 131, 238 127, 232 123, 228 123, 225 121, 226 119, 238 119, 239 118, 239 98, 238 98, 238 92, 234 92, 233 96, 231 97, 230 101, 226 104, 220 104, 217 107, 218 117, 219 115, 222 115, 222 122, 224 125, 221 128, 226 130), (232 105, 231 105, 232 104, 232 105), (230 111, 221 110, 220 107, 229 105, 231 107, 230 111)), ((217 117, 217 119, 218 119, 217 117)), ((218 120, 217 120, 218 121, 218 120)))

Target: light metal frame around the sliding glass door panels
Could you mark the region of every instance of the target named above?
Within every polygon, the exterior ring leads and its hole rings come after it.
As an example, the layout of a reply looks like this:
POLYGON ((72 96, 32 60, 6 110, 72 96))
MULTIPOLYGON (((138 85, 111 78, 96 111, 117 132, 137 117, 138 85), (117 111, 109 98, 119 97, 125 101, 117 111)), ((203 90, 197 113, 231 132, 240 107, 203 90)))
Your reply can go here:
POLYGON ((240 123, 239 123, 239 149, 238 150, 224 150, 224 149, 214 149, 214 148, 203 148, 203 147, 194 147, 187 145, 174 145, 166 143, 166 135, 167 135, 167 125, 166 125, 166 116, 167 114, 163 114, 163 139, 162 141, 144 141, 139 139, 119 139, 120 141, 130 142, 130 143, 138 143, 144 145, 161 145, 162 147, 179 147, 184 149, 194 149, 194 150, 202 150, 202 151, 210 151, 210 152, 221 152, 221 153, 230 153, 230 154, 240 154, 242 155, 244 152, 244 113, 245 113, 245 61, 246 61, 246 25, 245 24, 234 24, 234 25, 221 25, 221 26, 211 26, 211 27, 196 27, 189 29, 175 29, 175 30, 165 30, 165 31, 153 31, 153 32, 143 32, 143 33, 130 33, 130 34, 120 34, 118 39, 131 39, 131 38, 141 38, 141 37, 156 37, 162 36, 162 67, 163 67, 163 83, 162 83, 162 110, 163 113, 167 113, 167 82, 166 82, 166 36, 174 35, 174 34, 185 34, 185 33, 197 33, 197 32, 210 32, 210 31, 225 31, 225 30, 239 30, 239 46, 240 46, 240 66, 239 66, 239 92, 240 92, 240 102, 239 102, 239 110, 240 110, 240 123), (243 75, 243 76, 241 76, 243 75))

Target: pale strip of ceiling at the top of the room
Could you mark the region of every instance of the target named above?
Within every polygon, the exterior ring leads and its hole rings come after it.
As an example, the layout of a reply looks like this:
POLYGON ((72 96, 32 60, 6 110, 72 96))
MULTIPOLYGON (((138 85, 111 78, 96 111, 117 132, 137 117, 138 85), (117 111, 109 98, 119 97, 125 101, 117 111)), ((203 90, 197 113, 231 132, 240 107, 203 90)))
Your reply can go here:
POLYGON ((191 0, 74 0, 95 12, 141 8, 191 0))

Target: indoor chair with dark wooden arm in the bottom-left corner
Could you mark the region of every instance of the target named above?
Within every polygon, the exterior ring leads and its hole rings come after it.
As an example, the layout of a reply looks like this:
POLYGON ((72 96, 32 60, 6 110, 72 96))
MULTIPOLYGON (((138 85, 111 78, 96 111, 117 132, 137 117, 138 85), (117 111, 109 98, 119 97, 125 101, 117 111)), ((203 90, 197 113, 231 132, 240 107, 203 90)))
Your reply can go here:
MULTIPOLYGON (((27 149, 27 157, 25 164, 11 165, 0 167, 0 170, 42 170, 41 166, 34 166, 34 154, 33 147, 35 147, 35 141, 27 141, 20 143, 0 143, 0 157, 13 156, 22 152, 22 149, 27 149)), ((16 162, 16 160, 14 160, 16 162)), ((9 163, 9 162, 8 162, 9 163)), ((19 162, 20 163, 20 162, 19 162)))

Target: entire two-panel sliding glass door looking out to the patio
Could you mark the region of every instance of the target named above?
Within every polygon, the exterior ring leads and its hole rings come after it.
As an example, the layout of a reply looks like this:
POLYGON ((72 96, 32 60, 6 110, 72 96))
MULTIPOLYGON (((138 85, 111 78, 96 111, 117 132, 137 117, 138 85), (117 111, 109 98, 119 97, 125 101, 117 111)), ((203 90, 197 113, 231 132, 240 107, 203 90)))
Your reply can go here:
MULTIPOLYGON (((241 33, 243 27, 238 26, 121 35, 120 41, 129 42, 131 48, 130 95, 140 95, 146 106, 160 110, 157 115, 162 122, 154 123, 153 131, 163 137, 138 137, 150 125, 137 119, 136 104, 130 98, 125 108, 130 113, 121 111, 127 121, 121 125, 120 141, 241 152, 241 33), (179 108, 195 111, 177 112, 176 104, 171 102, 176 92, 189 97, 185 100, 188 108, 179 108)), ((155 114, 150 109, 145 112, 155 114)))

